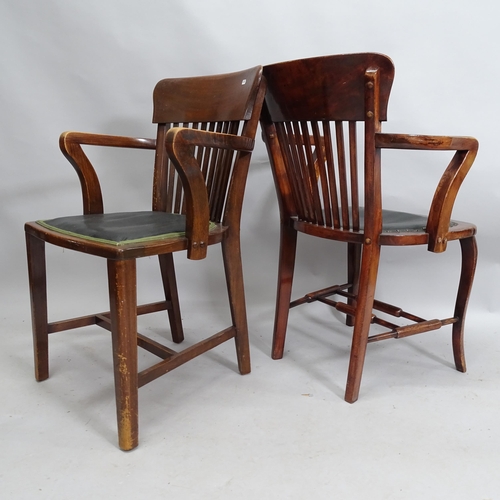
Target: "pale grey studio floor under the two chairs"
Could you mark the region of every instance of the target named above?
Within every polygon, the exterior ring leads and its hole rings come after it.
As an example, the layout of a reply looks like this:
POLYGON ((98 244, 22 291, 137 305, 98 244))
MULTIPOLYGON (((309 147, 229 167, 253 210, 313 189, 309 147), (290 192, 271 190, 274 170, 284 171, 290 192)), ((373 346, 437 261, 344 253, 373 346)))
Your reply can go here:
MULTIPOLYGON (((1 498, 500 498, 493 316, 469 315, 466 374, 447 329, 370 345, 349 405, 350 334, 333 313, 293 311, 273 361, 273 310, 249 307, 252 373, 239 375, 228 342, 141 388, 140 445, 124 453, 109 335, 51 336, 51 377, 37 383, 29 311, 15 302, 2 318, 1 498)), ((183 314, 188 339, 224 326, 222 309, 183 314)), ((155 314, 141 328, 166 338, 166 323, 155 314)))

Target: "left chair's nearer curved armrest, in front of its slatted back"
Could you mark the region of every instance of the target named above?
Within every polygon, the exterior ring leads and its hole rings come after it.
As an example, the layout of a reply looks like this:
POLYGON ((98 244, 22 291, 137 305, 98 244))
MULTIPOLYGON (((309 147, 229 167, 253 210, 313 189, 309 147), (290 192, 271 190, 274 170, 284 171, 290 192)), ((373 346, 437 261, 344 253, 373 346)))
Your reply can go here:
POLYGON ((207 187, 194 156, 195 147, 252 151, 254 142, 248 137, 182 127, 174 127, 167 132, 165 147, 179 174, 186 199, 189 259, 206 257, 210 217, 207 187))

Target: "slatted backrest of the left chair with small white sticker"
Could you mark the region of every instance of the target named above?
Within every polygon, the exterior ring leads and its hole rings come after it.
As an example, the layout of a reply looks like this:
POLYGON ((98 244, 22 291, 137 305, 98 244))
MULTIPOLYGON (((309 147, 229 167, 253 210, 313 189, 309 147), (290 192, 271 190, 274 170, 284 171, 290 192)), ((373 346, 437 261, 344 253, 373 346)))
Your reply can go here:
MULTIPOLYGON (((158 82, 153 92, 153 123, 158 124, 153 210, 184 212, 182 185, 165 152, 167 131, 180 126, 254 139, 264 97, 261 79, 262 67, 257 66, 158 82)), ((239 219, 250 153, 197 148, 195 154, 207 185, 210 220, 224 223, 228 205, 231 217, 239 219)))

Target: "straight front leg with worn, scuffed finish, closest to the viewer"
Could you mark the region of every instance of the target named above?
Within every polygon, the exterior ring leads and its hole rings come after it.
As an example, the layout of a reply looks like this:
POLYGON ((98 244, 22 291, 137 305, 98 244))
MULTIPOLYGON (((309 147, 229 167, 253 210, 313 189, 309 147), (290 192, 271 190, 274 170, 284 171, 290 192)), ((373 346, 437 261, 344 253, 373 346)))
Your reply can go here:
POLYGON ((118 441, 128 451, 139 444, 135 260, 108 260, 108 283, 118 441))

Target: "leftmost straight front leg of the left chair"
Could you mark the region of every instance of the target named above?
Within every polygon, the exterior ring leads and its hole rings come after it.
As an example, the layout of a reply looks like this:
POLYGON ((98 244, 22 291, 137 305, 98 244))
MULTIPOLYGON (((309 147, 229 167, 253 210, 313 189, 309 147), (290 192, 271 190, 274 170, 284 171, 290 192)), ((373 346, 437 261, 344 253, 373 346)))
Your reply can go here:
POLYGON ((26 250, 28 254, 35 377, 41 382, 49 377, 45 241, 26 233, 26 250))

